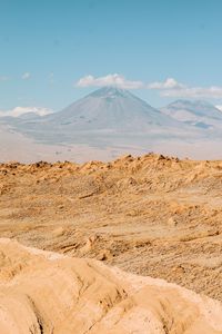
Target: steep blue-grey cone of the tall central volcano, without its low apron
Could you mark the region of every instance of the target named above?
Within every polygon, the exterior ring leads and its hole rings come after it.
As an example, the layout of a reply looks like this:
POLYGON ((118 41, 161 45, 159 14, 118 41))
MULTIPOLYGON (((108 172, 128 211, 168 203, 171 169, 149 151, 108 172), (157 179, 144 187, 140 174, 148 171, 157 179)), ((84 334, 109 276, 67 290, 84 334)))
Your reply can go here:
POLYGON ((72 130, 144 131, 176 122, 128 90, 101 88, 44 118, 72 130))

